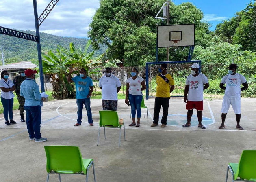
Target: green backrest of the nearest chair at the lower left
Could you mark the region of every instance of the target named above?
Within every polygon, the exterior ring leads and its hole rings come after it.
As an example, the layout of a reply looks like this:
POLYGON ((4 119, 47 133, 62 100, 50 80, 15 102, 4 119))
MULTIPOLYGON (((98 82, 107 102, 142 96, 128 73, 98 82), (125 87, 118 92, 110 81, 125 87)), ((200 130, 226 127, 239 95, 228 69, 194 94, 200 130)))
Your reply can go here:
POLYGON ((82 171, 82 155, 78 146, 44 146, 46 151, 46 171, 82 171))

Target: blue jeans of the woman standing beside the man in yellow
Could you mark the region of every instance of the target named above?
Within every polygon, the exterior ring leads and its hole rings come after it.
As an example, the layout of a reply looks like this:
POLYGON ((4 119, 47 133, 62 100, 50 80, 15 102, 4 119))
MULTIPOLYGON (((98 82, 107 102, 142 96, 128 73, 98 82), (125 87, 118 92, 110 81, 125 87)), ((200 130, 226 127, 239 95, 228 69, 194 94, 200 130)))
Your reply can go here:
POLYGON ((131 105, 132 118, 135 118, 135 113, 137 111, 137 118, 141 118, 141 101, 142 95, 132 95, 129 93, 128 99, 131 105), (136 111, 135 111, 136 110, 136 111))

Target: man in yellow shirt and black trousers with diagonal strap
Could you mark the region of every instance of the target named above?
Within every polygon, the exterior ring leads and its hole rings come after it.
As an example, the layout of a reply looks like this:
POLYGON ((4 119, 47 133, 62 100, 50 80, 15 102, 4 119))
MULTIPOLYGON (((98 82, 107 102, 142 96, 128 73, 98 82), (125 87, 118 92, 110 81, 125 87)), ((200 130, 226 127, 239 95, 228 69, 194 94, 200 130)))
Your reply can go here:
POLYGON ((167 64, 161 64, 158 69, 160 74, 156 76, 156 99, 154 108, 154 122, 151 125, 155 127, 158 125, 159 112, 161 106, 163 108, 163 116, 161 120, 161 127, 166 127, 166 121, 168 116, 168 108, 170 101, 170 93, 174 90, 174 78, 171 74, 167 73, 167 64))

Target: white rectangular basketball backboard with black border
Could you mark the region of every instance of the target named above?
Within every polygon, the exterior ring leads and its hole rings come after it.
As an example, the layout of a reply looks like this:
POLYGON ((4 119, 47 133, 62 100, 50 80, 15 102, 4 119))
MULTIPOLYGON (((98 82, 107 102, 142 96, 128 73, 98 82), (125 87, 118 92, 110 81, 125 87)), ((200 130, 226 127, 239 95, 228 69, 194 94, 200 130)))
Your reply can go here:
POLYGON ((195 45, 195 24, 164 25, 157 27, 157 47, 195 45))

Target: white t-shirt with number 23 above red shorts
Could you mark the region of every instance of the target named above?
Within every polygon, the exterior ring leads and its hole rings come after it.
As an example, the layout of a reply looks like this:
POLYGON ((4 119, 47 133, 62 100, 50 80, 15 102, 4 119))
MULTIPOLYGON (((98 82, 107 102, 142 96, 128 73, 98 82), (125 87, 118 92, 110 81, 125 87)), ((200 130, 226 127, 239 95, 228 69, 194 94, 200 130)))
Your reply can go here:
POLYGON ((186 85, 189 85, 189 93, 187 99, 189 101, 202 101, 204 99, 204 84, 208 83, 207 77, 199 73, 197 76, 190 74, 187 76, 186 85))

